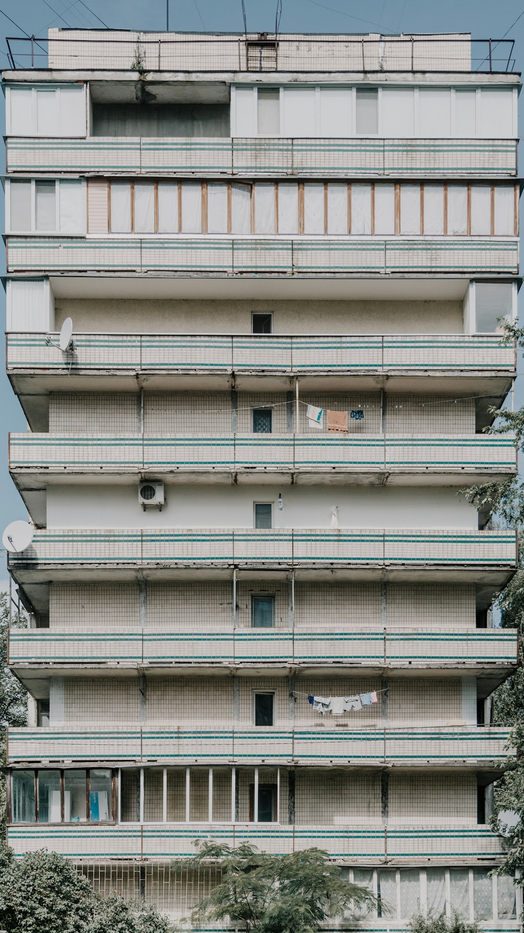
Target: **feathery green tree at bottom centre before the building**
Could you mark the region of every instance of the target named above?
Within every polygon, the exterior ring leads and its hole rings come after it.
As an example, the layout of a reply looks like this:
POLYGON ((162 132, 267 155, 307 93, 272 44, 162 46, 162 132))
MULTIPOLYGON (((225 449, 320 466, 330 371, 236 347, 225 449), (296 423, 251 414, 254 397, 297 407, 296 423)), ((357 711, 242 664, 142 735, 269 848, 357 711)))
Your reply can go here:
POLYGON ((213 921, 241 925, 248 933, 316 933, 330 917, 376 904, 367 888, 342 878, 321 849, 273 856, 247 843, 237 849, 213 841, 195 844, 197 855, 172 867, 196 871, 212 860, 220 876, 192 913, 196 926, 213 921))

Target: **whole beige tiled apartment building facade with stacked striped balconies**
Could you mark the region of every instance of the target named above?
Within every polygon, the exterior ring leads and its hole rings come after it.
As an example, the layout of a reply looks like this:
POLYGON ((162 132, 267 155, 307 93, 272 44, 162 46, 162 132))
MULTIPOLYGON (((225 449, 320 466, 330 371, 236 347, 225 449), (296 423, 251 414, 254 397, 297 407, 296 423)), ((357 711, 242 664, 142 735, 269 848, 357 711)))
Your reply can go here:
POLYGON ((467 35, 30 42, 9 844, 177 919, 215 880, 170 870, 195 840, 314 845, 389 905, 343 927, 516 930, 489 821, 517 545, 461 490, 517 468, 484 428, 516 376, 518 76, 467 35))

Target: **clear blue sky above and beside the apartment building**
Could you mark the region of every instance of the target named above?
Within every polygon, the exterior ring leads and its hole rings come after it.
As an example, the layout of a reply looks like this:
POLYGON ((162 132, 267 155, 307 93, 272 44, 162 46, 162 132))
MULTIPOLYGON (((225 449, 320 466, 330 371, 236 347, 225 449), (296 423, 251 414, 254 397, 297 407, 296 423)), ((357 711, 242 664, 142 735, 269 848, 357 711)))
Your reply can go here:
MULTIPOLYGON (((277 0, 244 0, 247 26, 250 31, 273 32, 277 0)), ((449 33, 471 32, 474 38, 501 38, 506 32, 516 40, 516 69, 524 66, 524 0, 282 0, 280 30, 283 33, 449 33)), ((241 31, 241 0, 170 0, 170 28, 194 32, 241 31)), ((6 43, 3 36, 46 35, 48 26, 161 30, 166 27, 166 0, 2 0, 0 6, 0 63, 7 67, 6 43), (10 22, 9 17, 13 22, 10 22), (100 18, 100 19, 97 19, 100 18)), ((520 99, 520 118, 524 95, 520 99)), ((0 96, 0 125, 5 125, 4 97, 0 96)), ((3 140, 1 146, 3 147, 3 140)), ((4 153, 0 153, 5 165, 4 153)), ((4 216, 3 191, 0 190, 0 216, 4 216)), ((2 221, 3 226, 3 221, 2 221)), ((5 255, 1 257, 5 272, 5 255)), ((521 299, 524 300, 524 288, 521 299)), ((5 294, 0 289, 2 320, 5 321, 5 294)), ((522 317, 522 311, 520 316, 522 317)), ((0 406, 0 530, 7 522, 24 518, 23 503, 7 472, 7 432, 25 430, 25 420, 16 397, 11 392, 0 365, 2 404, 0 406)), ((522 390, 517 401, 522 403, 522 390)), ((7 576, 5 561, 0 569, 7 576)))

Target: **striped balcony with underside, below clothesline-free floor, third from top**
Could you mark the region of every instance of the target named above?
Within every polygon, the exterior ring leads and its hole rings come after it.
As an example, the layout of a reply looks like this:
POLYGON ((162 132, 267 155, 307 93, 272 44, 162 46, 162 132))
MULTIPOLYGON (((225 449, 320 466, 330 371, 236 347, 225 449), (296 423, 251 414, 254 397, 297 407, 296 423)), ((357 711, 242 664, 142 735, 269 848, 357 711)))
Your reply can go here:
MULTIPOLYGON (((58 335, 51 337, 58 342, 58 335)), ((500 336, 394 334, 277 335, 82 334, 62 354, 46 334, 7 334, 7 374, 16 392, 195 388, 384 388, 475 392, 503 397, 515 378, 516 348, 500 336)), ((502 401, 502 398, 501 398, 502 401)))

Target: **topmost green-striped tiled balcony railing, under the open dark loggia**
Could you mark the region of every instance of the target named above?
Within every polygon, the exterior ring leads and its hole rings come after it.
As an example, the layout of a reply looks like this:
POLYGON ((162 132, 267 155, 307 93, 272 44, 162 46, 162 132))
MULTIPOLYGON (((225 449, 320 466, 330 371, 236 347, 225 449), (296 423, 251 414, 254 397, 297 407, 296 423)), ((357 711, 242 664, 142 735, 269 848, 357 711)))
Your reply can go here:
POLYGON ((7 172, 295 178, 510 177, 515 139, 145 138, 10 136, 7 172))

